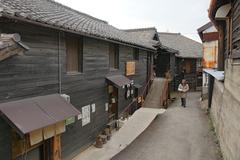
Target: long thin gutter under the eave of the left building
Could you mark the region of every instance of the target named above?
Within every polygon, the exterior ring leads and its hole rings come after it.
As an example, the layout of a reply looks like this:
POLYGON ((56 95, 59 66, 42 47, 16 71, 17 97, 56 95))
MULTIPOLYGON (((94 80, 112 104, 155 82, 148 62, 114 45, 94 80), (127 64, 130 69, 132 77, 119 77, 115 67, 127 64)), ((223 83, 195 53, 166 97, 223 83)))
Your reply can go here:
POLYGON ((56 29, 56 30, 60 30, 60 31, 64 31, 64 32, 69 32, 69 33, 77 34, 77 35, 80 35, 80 36, 85 36, 85 37, 89 37, 89 38, 103 40, 103 41, 116 43, 116 44, 120 44, 120 45, 124 45, 124 46, 128 46, 128 47, 139 48, 139 49, 144 50, 144 51, 149 51, 149 52, 154 52, 154 53, 157 52, 156 49, 150 49, 150 48, 146 48, 146 47, 143 47, 143 46, 140 46, 140 45, 133 45, 133 44, 130 44, 130 43, 124 43, 124 42, 121 42, 121 41, 116 41, 116 40, 112 40, 112 39, 108 39, 108 38, 104 38, 104 37, 99 37, 99 36, 96 36, 96 35, 90 35, 90 34, 83 33, 83 32, 71 31, 71 30, 64 29, 64 28, 57 27, 57 26, 51 26, 47 23, 40 23, 40 22, 37 22, 37 21, 27 20, 27 19, 21 18, 21 17, 16 17, 16 16, 3 14, 1 10, 0 10, 0 17, 4 17, 4 18, 8 18, 8 19, 14 19, 14 20, 17 20, 17 21, 26 22, 26 23, 30 23, 30 24, 33 24, 33 25, 38 25, 38 26, 42 26, 42 27, 46 27, 46 28, 51 28, 51 29, 56 29))

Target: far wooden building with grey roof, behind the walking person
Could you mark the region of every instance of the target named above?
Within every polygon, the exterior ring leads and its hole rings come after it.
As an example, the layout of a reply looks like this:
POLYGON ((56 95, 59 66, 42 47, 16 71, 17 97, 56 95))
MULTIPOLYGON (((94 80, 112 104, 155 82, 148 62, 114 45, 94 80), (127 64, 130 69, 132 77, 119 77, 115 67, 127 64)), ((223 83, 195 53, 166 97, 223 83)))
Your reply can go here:
MULTIPOLYGON (((174 69, 174 88, 177 89, 181 79, 185 78, 191 90, 201 89, 202 86, 202 44, 189 39, 180 33, 159 33, 160 43, 166 46, 170 54, 168 57, 175 57, 167 63, 175 66, 174 69), (176 52, 177 51, 177 52, 176 52), (175 64, 174 64, 175 63, 175 64), (174 65, 173 65, 174 64, 174 65)), ((169 65, 168 65, 169 66, 169 65)), ((165 67, 167 68, 167 67, 165 67)))

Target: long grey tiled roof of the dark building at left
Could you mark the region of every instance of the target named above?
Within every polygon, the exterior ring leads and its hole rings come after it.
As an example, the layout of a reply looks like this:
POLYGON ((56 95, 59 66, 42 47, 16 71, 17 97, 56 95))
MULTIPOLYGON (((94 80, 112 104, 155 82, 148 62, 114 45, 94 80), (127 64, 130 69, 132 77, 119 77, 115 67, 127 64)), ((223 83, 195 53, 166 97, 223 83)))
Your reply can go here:
POLYGON ((108 39, 146 49, 155 48, 106 21, 94 18, 52 0, 0 0, 0 16, 20 18, 37 24, 108 39))

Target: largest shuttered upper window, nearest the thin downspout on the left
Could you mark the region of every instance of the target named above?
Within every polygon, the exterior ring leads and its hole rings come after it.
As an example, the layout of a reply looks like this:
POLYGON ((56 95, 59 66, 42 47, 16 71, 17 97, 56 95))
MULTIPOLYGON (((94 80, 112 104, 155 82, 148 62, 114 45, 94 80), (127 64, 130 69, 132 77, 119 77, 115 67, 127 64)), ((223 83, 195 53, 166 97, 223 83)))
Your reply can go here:
POLYGON ((67 73, 74 74, 83 71, 83 39, 68 36, 67 49, 67 73))

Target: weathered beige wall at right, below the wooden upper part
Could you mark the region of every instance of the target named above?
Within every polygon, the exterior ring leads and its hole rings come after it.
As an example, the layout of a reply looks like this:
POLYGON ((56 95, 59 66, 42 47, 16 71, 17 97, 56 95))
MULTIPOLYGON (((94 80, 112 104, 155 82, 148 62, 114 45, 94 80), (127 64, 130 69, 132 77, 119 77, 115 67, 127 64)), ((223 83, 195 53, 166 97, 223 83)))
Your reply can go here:
POLYGON ((240 159, 240 63, 226 61, 224 83, 215 80, 211 117, 225 160, 240 159))

